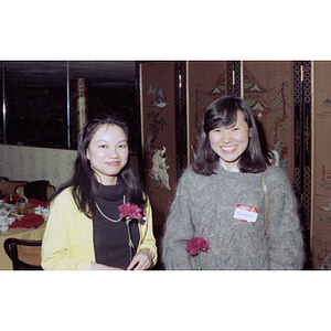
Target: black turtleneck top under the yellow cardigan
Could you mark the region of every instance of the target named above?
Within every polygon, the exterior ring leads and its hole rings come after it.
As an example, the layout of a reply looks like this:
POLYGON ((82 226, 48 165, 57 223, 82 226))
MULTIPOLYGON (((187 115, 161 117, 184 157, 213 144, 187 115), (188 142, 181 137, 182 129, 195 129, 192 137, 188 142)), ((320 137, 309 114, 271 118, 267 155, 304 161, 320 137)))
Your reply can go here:
MULTIPOLYGON (((96 200, 102 212, 109 218, 118 220, 118 206, 124 204, 124 191, 120 184, 104 186, 99 184, 96 200)), ((129 201, 126 201, 129 202, 129 201)), ((130 234, 135 244, 132 257, 139 244, 139 228, 136 220, 130 222, 130 234)), ((126 269, 130 264, 130 248, 127 224, 124 221, 106 220, 96 209, 93 220, 95 257, 98 264, 126 269)))

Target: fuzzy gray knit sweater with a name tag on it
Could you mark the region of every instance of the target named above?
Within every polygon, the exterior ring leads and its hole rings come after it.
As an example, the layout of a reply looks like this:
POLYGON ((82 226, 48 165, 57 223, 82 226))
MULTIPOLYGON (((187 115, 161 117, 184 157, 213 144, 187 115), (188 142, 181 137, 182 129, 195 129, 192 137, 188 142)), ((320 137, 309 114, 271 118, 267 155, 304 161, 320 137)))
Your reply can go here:
POLYGON ((166 224, 166 269, 196 269, 197 256, 185 250, 186 242, 195 236, 209 242, 209 250, 200 254, 204 270, 301 269, 303 242, 290 182, 280 168, 268 169, 268 249, 261 177, 263 173, 229 172, 222 167, 216 174, 206 177, 188 168, 166 224), (238 204, 258 211, 255 223, 233 217, 238 204))

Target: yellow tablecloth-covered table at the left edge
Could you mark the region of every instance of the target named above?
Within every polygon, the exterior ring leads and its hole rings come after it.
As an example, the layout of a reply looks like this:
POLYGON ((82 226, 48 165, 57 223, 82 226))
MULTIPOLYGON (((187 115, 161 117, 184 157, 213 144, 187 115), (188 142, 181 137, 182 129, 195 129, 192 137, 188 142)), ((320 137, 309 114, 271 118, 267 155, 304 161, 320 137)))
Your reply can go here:
POLYGON ((0 270, 12 270, 12 261, 7 255, 3 243, 7 238, 19 238, 29 241, 42 241, 46 227, 46 222, 44 222, 38 228, 31 227, 14 227, 9 228, 8 232, 0 234, 0 270))

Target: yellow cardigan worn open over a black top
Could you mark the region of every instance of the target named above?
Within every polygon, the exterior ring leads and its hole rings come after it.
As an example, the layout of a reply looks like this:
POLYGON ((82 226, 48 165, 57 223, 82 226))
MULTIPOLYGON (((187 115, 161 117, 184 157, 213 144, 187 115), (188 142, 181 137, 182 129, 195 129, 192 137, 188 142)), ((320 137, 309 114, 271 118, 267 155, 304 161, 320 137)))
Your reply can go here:
MULTIPOLYGON (((152 264, 157 263, 157 246, 152 229, 152 213, 148 200, 147 224, 138 225, 138 250, 148 248, 152 264)), ((45 270, 88 270, 95 261, 93 223, 74 202, 72 188, 61 192, 51 205, 51 213, 42 244, 42 267, 45 270)))

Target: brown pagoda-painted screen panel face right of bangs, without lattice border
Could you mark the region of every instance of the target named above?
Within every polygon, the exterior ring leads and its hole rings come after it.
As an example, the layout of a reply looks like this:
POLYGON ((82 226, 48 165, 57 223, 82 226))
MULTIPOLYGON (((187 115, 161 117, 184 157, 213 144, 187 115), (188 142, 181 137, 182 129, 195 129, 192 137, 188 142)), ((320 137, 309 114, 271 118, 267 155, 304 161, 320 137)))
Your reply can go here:
POLYGON ((244 62, 244 99, 255 113, 266 138, 266 150, 293 182, 292 63, 244 62))

